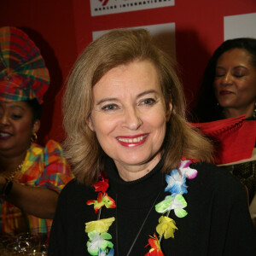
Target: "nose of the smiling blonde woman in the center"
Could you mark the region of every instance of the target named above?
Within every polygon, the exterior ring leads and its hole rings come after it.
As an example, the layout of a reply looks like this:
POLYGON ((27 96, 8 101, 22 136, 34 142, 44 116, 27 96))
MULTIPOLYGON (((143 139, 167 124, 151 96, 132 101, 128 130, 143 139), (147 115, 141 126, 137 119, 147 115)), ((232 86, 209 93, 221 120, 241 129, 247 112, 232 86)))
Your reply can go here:
POLYGON ((143 124, 137 108, 126 108, 122 127, 131 131, 136 131, 143 124))

